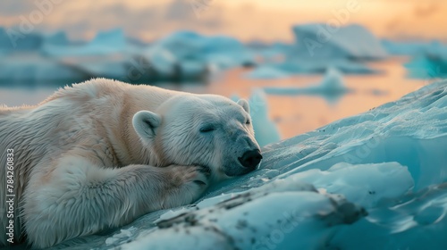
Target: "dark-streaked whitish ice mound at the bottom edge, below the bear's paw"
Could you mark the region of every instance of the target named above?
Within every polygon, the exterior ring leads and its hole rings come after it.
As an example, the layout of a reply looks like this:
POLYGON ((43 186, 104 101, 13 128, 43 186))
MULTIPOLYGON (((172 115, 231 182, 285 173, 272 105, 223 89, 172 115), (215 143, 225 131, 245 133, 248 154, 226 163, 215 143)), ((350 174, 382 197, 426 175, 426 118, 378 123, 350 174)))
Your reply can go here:
POLYGON ((272 244, 269 237, 274 232, 277 237, 274 244, 279 249, 302 235, 308 237, 297 246, 315 249, 324 246, 320 237, 328 237, 337 225, 350 224, 365 214, 340 196, 321 195, 310 185, 277 179, 266 188, 259 187, 212 207, 159 221, 157 226, 161 229, 122 248, 261 249, 272 244), (258 209, 266 204, 269 209, 258 209), (266 223, 266 217, 271 224, 266 223))

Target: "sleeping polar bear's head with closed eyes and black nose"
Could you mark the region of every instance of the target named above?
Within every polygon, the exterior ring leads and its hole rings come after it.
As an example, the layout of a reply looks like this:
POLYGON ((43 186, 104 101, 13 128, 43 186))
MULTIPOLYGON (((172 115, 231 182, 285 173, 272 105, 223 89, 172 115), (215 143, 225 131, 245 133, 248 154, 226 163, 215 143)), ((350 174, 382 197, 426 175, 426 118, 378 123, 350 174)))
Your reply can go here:
POLYGON ((222 178, 253 171, 262 159, 245 100, 175 96, 156 112, 137 112, 132 122, 159 166, 201 165, 222 178))

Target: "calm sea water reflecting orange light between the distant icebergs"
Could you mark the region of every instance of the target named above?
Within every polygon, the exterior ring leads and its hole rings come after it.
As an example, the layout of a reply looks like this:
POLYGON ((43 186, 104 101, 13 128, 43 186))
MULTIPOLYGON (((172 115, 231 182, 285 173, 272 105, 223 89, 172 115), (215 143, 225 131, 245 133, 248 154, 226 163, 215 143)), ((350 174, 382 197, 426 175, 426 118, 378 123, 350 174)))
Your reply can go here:
MULTIPOLYGON (((402 67, 405 59, 370 63, 383 70, 383 74, 369 76, 344 76, 347 87, 353 92, 328 102, 322 96, 269 96, 269 116, 277 124, 281 137, 288 138, 321 127, 332 121, 366 112, 380 104, 399 99, 401 96, 428 84, 429 79, 408 79, 402 67)), ((161 87, 193 93, 210 93, 223 96, 248 98, 253 90, 262 87, 306 87, 319 82, 323 76, 297 76, 290 79, 246 79, 249 70, 235 69, 208 84, 162 84, 161 87)), ((19 87, 0 86, 0 104, 8 106, 38 104, 51 95, 60 85, 33 85, 19 87)))

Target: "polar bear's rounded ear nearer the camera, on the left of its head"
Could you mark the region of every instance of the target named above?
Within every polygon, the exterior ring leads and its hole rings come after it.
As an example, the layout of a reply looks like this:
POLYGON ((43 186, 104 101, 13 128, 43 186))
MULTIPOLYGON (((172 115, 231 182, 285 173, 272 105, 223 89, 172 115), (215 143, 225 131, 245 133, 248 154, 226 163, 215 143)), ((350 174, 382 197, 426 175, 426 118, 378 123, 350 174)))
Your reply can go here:
POLYGON ((151 139, 156 136, 156 128, 162 123, 162 118, 155 112, 139 111, 133 115, 132 125, 139 137, 151 139))

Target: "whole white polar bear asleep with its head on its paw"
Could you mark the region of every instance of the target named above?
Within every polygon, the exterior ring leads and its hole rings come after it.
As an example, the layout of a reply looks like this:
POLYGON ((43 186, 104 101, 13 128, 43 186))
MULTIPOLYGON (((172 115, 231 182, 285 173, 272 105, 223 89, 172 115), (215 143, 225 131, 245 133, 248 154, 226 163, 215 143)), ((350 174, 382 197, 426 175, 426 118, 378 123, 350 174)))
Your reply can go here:
POLYGON ((38 248, 190 204, 262 159, 247 101, 111 79, 0 108, 0 141, 0 245, 38 248))

